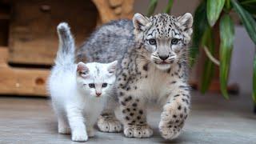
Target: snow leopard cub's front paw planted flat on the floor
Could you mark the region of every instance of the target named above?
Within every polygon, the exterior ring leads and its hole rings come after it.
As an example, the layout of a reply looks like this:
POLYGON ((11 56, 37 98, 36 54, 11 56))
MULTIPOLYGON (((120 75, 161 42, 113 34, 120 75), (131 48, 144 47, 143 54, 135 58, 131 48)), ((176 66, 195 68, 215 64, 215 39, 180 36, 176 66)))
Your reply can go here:
POLYGON ((129 138, 149 138, 153 135, 153 130, 148 125, 131 125, 126 126, 123 133, 129 138))

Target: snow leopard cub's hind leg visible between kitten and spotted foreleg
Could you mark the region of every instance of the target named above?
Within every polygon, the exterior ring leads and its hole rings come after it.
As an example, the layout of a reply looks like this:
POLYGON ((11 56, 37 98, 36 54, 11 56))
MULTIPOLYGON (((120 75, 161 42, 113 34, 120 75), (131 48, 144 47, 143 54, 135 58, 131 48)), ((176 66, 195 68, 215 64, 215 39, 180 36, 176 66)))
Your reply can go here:
POLYGON ((108 98, 102 114, 98 118, 97 126, 102 132, 117 133, 122 131, 122 123, 116 118, 114 110, 118 106, 114 97, 108 98))

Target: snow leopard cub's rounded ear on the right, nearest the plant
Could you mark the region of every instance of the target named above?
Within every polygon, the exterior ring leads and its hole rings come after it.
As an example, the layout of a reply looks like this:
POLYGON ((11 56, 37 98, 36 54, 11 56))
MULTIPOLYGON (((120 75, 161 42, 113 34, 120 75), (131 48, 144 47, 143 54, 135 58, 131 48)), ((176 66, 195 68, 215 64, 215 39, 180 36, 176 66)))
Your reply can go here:
POLYGON ((185 31, 187 34, 192 34, 192 26, 193 26, 193 16, 190 13, 186 13, 182 16, 179 16, 178 22, 180 23, 180 28, 185 31))

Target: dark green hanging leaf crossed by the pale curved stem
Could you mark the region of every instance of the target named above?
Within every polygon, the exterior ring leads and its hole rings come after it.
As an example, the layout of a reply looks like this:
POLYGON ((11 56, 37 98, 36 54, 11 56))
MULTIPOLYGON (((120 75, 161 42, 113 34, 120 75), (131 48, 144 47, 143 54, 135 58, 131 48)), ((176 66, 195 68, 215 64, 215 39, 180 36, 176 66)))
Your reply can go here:
MULTIPOLYGON (((202 46, 205 46, 211 54, 214 54, 214 38, 213 32, 210 27, 208 27, 205 33, 202 36, 202 46)), ((210 87, 210 83, 214 76, 214 62, 211 62, 209 58, 206 57, 203 71, 202 71, 202 79, 200 91, 202 93, 206 93, 206 91, 210 87)))

